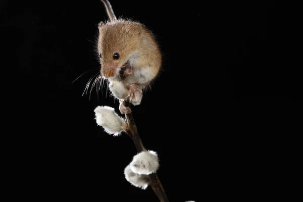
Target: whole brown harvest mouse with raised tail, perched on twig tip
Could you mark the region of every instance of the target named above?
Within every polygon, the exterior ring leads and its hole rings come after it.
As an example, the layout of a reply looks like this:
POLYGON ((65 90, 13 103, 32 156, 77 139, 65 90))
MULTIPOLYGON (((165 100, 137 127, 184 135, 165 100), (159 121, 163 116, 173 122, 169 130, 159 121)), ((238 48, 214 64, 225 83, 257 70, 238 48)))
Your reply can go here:
POLYGON ((122 114, 130 108, 122 104, 129 99, 140 105, 143 91, 159 75, 162 55, 156 38, 144 25, 131 20, 117 19, 108 0, 102 0, 110 21, 98 24, 97 51, 101 74, 119 99, 122 114))

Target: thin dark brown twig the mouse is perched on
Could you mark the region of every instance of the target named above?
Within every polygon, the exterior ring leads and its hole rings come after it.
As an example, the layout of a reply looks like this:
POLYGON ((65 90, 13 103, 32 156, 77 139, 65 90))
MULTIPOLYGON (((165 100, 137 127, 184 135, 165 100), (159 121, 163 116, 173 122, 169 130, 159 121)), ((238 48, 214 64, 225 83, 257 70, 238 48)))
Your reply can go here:
MULTIPOLYGON (((128 100, 124 100, 123 105, 125 107, 130 107, 128 100)), ((126 120, 127 120, 127 124, 128 124, 128 129, 126 130, 126 134, 132 138, 138 152, 146 151, 146 149, 143 146, 143 143, 141 141, 141 138, 139 136, 134 118, 131 113, 126 114, 126 120)), ((156 173, 152 173, 152 174, 149 174, 148 176, 149 176, 150 182, 151 182, 149 185, 154 190, 155 194, 158 196, 160 201, 169 202, 169 200, 165 194, 164 188, 158 178, 158 175, 156 173)))

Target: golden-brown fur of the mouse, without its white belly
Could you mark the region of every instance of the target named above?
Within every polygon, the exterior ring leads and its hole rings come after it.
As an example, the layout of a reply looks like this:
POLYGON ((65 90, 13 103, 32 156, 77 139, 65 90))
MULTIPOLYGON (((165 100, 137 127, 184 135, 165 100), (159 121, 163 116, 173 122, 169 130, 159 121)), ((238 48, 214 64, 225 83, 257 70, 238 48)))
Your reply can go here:
POLYGON ((154 35, 143 25, 119 19, 99 23, 98 28, 98 52, 102 55, 100 63, 103 76, 109 78, 118 75, 118 68, 124 67, 132 53, 137 56, 133 69, 148 67, 152 74, 150 77, 155 78, 158 75, 162 63, 161 52, 154 35), (120 54, 119 60, 113 60, 114 53, 120 54))

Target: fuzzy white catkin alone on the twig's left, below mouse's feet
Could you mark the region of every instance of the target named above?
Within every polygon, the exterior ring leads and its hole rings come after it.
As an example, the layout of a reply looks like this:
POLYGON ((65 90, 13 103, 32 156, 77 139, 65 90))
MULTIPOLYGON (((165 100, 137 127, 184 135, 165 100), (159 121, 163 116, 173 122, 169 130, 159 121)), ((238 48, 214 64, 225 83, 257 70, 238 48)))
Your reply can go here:
POLYGON ((98 106, 94 110, 95 120, 99 126, 109 133, 117 136, 123 131, 125 120, 115 113, 115 109, 108 106, 98 106))

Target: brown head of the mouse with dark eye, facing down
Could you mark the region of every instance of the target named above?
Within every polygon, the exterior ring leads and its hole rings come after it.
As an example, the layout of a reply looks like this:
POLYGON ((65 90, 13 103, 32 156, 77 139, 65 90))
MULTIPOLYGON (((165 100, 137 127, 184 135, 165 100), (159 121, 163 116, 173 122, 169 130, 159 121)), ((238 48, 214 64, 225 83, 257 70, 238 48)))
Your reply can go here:
POLYGON ((136 22, 116 20, 98 25, 98 54, 101 74, 105 78, 119 76, 130 57, 136 54, 141 43, 141 25, 136 22))

